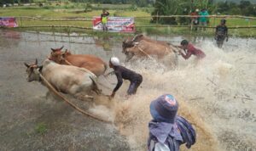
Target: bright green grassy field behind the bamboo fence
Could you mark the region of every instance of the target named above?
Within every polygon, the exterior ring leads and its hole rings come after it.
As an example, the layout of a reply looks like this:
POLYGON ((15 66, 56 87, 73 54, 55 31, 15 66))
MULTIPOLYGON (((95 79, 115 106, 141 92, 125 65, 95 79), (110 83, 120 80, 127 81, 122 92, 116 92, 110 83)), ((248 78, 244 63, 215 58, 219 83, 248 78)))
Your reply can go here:
MULTIPOLYGON (((93 9, 89 12, 84 12, 84 4, 76 4, 68 6, 49 6, 39 8, 37 6, 33 7, 14 7, 14 8, 2 8, 0 9, 0 16, 15 16, 17 17, 18 24, 20 26, 39 26, 39 25, 73 25, 81 27, 92 27, 91 21, 45 21, 45 20, 28 20, 20 18, 21 16, 31 16, 46 19, 91 19, 93 16, 99 16, 102 13, 102 8, 109 8, 108 12, 111 16, 123 16, 123 17, 135 17, 135 23, 137 25, 137 32, 147 32, 148 34, 193 34, 193 35, 206 35, 212 36, 214 34, 214 29, 207 29, 206 32, 203 31, 190 31, 189 27, 161 27, 161 25, 156 25, 150 23, 150 11, 152 8, 137 8, 133 10, 131 5, 95 5, 93 9), (77 6, 73 8, 72 6, 77 6), (66 7, 66 8, 65 8, 66 7), (118 9, 116 9, 118 8, 118 9), (145 17, 145 18, 142 18, 145 17), (139 27, 142 25, 154 26, 154 27, 139 27)), ((220 19, 211 19, 210 26, 214 27, 218 25, 220 19)), ((245 19, 228 19, 227 26, 247 26, 256 25, 256 20, 245 20, 245 19)), ((27 30, 26 28, 19 28, 19 30, 27 30)), ((29 28, 30 31, 61 31, 61 32, 84 32, 83 29, 73 29, 73 28, 29 28)), ((93 33, 92 31, 86 31, 93 33)), ((256 37, 256 28, 252 29, 230 29, 231 36, 252 36, 256 37)))

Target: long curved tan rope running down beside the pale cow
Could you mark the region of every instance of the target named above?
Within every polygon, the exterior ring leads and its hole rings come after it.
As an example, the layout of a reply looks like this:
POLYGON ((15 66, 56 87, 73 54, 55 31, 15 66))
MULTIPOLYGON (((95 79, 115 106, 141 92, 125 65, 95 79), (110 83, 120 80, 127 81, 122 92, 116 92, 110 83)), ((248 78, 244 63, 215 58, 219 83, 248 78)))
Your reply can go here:
POLYGON ((67 100, 67 98, 64 98, 63 95, 61 95, 60 92, 57 92, 55 90, 55 87, 53 87, 49 81, 47 81, 44 76, 42 74, 39 74, 40 78, 44 81, 44 83, 46 84, 46 86, 55 93, 55 95, 57 95, 58 97, 62 98, 66 103, 68 103, 70 106, 72 106, 74 109, 77 109, 80 113, 82 113, 83 115, 87 115, 87 116, 90 116, 91 118, 94 118, 96 120, 100 120, 100 121, 104 121, 104 122, 107 122, 107 123, 112 123, 111 121, 109 120, 104 120, 96 115, 92 115, 86 111, 84 111, 83 109, 80 109, 79 107, 77 107, 74 103, 71 103, 70 101, 67 100))

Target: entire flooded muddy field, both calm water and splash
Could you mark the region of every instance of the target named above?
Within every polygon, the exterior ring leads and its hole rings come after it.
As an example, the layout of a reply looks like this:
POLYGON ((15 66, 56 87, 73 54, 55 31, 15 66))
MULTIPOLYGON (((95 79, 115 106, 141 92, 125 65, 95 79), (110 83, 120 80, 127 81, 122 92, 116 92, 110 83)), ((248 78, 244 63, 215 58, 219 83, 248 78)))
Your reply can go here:
MULTIPOLYGON (((152 36, 178 44, 182 36, 152 36)), ((194 59, 179 58, 176 70, 168 70, 154 60, 138 60, 124 65, 143 75, 136 95, 124 99, 124 85, 112 102, 97 98, 90 112, 114 125, 80 115, 66 103, 46 97, 38 82, 26 82, 23 62, 42 62, 49 48, 62 45, 73 53, 90 53, 108 61, 120 53, 121 41, 113 37, 49 36, 1 31, 1 141, 2 150, 145 150, 148 137, 148 106, 163 93, 172 93, 180 103, 179 115, 186 117, 198 134, 189 150, 256 149, 256 40, 230 38, 223 49, 212 39, 186 37, 207 53, 195 65, 194 59), (47 131, 38 126, 44 124, 47 131)), ((101 78, 105 93, 116 82, 114 76, 101 78), (109 87, 109 88, 108 88, 109 87)), ((79 103, 83 106, 86 103, 79 103)), ((88 109, 88 108, 87 108, 88 109)), ((42 127, 42 126, 41 126, 42 127)), ((182 148, 186 150, 186 148, 182 148)))

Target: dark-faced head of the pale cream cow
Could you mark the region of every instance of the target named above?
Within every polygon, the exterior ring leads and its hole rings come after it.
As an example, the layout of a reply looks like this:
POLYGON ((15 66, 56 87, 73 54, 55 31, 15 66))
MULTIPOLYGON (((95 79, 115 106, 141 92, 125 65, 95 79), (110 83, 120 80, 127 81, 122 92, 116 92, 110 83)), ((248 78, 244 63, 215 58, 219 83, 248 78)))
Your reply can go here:
POLYGON ((26 64, 26 80, 27 81, 40 81, 40 72, 43 69, 43 66, 38 66, 38 59, 34 64, 26 64))

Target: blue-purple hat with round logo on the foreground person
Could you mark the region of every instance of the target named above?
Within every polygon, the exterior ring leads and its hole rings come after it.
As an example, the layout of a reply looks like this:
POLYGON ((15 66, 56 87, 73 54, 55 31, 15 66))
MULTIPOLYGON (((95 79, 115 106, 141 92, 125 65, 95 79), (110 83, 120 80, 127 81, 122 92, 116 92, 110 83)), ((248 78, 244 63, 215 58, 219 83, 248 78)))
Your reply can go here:
POLYGON ((150 103, 150 114, 159 122, 174 123, 178 103, 171 94, 161 95, 150 103))

